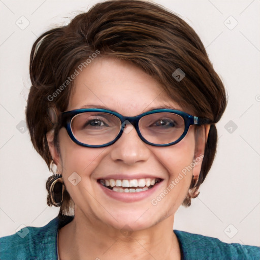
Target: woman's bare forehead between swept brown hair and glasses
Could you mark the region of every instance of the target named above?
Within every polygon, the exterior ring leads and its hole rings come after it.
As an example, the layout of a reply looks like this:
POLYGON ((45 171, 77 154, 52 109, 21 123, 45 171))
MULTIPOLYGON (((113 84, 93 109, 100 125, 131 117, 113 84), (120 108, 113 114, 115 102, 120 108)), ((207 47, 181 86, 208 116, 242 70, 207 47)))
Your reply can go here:
POLYGON ((96 58, 76 76, 68 110, 91 105, 129 116, 154 108, 181 110, 154 78, 116 58, 96 58))

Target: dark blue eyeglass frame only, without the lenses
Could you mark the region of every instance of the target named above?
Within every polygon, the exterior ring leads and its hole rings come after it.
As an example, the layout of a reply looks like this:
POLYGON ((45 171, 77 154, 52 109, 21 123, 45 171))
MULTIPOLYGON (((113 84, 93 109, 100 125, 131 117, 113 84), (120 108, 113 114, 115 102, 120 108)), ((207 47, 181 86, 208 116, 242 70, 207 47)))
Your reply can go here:
POLYGON ((106 109, 99 109, 99 108, 96 108, 96 109, 95 108, 83 108, 83 109, 76 109, 76 110, 71 110, 71 111, 66 111, 66 112, 61 113, 61 127, 63 127, 63 126, 66 127, 70 138, 78 145, 85 146, 85 147, 92 147, 92 148, 106 147, 106 146, 114 144, 123 134, 123 129, 124 129, 124 126, 125 126, 124 122, 125 121, 130 122, 135 127, 137 134, 142 141, 144 141, 146 144, 149 144, 149 145, 152 145, 152 146, 170 146, 170 145, 177 144, 178 142, 180 142, 186 136, 190 125, 192 125, 192 124, 202 125, 202 124, 211 123, 210 119, 208 119, 208 118, 200 118, 200 117, 197 117, 197 116, 192 116, 192 115, 189 115, 185 112, 182 112, 182 111, 179 111, 179 110, 174 110, 174 109, 154 109, 154 110, 142 113, 142 114, 137 115, 137 116, 123 116, 123 115, 121 115, 117 112, 106 110, 106 109), (88 145, 88 144, 81 143, 80 141, 78 141, 74 137, 74 135, 72 133, 71 121, 72 121, 72 118, 75 115, 78 115, 78 114, 81 114, 81 113, 84 113, 84 112, 104 112, 104 113, 108 113, 108 114, 111 114, 111 115, 118 117, 121 121, 121 130, 120 130, 119 134, 116 136, 116 138, 114 140, 112 140, 111 142, 108 142, 106 144, 103 144, 103 145, 88 145), (140 132, 139 120, 143 116, 155 114, 155 113, 160 113, 160 112, 174 113, 176 115, 181 116, 184 119, 184 123, 185 123, 184 132, 180 136, 179 139, 177 139, 176 141, 174 141, 172 143, 168 143, 168 144, 150 143, 146 139, 144 139, 144 137, 142 136, 142 134, 140 132))

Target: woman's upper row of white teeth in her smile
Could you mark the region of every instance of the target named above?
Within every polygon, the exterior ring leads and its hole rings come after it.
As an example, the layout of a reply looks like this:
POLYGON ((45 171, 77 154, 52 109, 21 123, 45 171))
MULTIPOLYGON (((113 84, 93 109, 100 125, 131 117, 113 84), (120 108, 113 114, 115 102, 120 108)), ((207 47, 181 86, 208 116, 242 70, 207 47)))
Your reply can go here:
POLYGON ((156 179, 146 178, 146 179, 132 179, 132 180, 120 180, 120 179, 102 179, 100 182, 105 186, 117 186, 117 187, 149 187, 155 184, 156 179))

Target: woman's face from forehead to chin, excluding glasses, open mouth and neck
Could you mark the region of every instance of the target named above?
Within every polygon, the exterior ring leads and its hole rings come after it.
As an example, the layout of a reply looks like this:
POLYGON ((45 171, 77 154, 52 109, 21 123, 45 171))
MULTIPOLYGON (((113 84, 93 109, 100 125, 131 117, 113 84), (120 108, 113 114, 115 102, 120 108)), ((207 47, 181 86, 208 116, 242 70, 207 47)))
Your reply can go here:
MULTIPOLYGON (((151 76, 129 62, 112 58, 96 58, 80 72, 67 110, 96 107, 124 116, 155 108, 183 111, 151 76)), ((61 157, 52 155, 75 203, 75 216, 116 229, 128 225, 132 230, 141 230, 173 216, 181 205, 192 172, 200 168, 198 164, 190 170, 200 152, 195 154, 193 126, 182 141, 168 147, 144 143, 135 128, 129 127, 113 145, 102 148, 77 145, 64 127, 60 129, 61 157), (101 179, 161 182, 141 192, 119 192, 104 187, 98 181, 101 179)))

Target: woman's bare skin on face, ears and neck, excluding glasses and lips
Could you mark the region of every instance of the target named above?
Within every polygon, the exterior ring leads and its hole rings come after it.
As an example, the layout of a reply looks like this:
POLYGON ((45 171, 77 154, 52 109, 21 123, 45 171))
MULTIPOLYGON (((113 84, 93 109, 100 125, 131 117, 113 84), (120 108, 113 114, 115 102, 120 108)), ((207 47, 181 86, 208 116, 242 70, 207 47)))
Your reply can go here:
MULTIPOLYGON (((156 107, 192 114, 170 99, 151 76, 115 58, 96 58, 76 77, 67 110, 86 105, 104 106, 125 116, 136 116, 156 107)), ((111 146, 87 148, 74 143, 63 127, 58 136, 60 155, 51 134, 47 134, 58 172, 75 203, 74 220, 59 231, 60 259, 181 259, 172 229, 174 214, 187 194, 192 175, 198 178, 202 160, 156 206, 151 200, 204 153, 209 127, 202 128, 205 131, 196 137, 191 126, 181 142, 168 147, 145 144, 132 129, 111 146), (81 177, 76 186, 68 180, 73 172, 81 177), (96 181, 109 174, 140 173, 164 180, 152 196, 138 202, 112 199, 96 181), (123 235, 123 227, 131 233, 123 235)))

